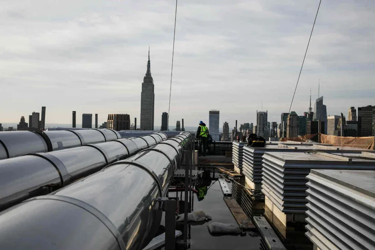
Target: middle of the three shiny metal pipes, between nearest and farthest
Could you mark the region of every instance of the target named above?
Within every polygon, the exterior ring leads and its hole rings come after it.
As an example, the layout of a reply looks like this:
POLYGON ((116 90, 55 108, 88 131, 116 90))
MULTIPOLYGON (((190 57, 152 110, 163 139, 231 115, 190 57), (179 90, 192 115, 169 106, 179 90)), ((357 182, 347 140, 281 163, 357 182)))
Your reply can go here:
MULTIPOLYGON (((98 133, 95 130, 79 131, 98 133)), ((31 138, 39 136, 29 131, 21 132, 26 132, 31 138)), ((53 132, 73 134, 69 131, 53 132)), ((155 143, 155 140, 153 142, 155 143)), ((0 211, 27 198, 57 190, 147 147, 142 137, 115 139, 0 160, 0 211)))

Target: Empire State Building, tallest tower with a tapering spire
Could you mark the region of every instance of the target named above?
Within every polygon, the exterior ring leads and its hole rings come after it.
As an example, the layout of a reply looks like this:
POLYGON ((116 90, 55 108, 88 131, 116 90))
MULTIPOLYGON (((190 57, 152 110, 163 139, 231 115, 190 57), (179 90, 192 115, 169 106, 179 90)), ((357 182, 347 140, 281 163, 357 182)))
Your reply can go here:
POLYGON ((153 130, 154 106, 155 94, 153 92, 148 48, 147 70, 146 75, 143 77, 142 91, 140 93, 140 130, 153 130))

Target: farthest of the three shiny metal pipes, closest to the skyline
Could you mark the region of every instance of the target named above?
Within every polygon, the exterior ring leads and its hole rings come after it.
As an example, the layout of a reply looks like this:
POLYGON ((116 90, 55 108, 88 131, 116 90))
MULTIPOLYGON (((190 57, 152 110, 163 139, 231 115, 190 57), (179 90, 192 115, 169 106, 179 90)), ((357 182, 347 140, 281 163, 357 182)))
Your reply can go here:
POLYGON ((26 153, 49 152, 121 138, 113 129, 46 130, 27 128, 0 132, 0 160, 26 153))

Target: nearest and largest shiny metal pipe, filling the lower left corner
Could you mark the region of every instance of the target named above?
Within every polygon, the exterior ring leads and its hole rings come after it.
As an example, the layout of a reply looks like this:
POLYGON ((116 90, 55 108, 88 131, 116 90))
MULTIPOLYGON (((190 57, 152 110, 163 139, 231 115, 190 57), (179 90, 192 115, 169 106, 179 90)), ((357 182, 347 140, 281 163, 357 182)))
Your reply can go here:
POLYGON ((0 249, 142 249, 161 221, 156 199, 178 166, 171 146, 152 149, 2 211, 0 249))

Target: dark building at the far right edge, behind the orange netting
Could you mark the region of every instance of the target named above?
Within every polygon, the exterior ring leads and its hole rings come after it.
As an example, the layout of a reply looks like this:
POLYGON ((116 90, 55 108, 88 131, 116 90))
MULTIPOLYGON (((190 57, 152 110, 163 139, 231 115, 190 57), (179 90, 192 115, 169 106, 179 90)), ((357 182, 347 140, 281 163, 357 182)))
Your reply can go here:
POLYGON ((374 135, 375 106, 358 107, 358 136, 374 135))

